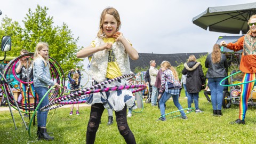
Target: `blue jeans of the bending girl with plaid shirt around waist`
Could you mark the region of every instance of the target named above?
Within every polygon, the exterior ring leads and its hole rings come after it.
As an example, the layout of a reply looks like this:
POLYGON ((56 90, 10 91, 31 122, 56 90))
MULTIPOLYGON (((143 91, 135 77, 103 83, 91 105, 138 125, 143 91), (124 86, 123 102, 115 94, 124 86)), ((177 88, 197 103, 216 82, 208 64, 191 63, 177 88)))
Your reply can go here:
MULTIPOLYGON (((159 107, 160 107, 160 111, 161 111, 161 116, 165 115, 165 107, 164 107, 164 104, 167 100, 169 100, 170 98, 172 97, 172 100, 173 100, 173 103, 174 105, 179 109, 183 109, 182 106, 180 105, 179 103, 179 94, 176 94, 176 95, 173 95, 171 93, 167 93, 167 92, 164 92, 161 99, 159 100, 159 107)), ((184 113, 183 110, 180 111, 181 113, 181 116, 185 117, 186 114, 184 113)), ((164 117, 162 117, 162 119, 164 119, 164 117)))

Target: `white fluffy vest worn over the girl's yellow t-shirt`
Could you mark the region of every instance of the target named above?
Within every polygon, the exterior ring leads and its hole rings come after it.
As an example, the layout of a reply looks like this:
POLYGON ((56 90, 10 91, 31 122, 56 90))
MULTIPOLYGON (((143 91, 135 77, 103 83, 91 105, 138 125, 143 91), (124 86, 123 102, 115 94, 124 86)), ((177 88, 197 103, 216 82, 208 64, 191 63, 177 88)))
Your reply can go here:
MULTIPOLYGON (((95 47, 102 45, 103 39, 95 39, 95 47)), ((115 42, 111 49, 113 50, 116 63, 121 70, 122 75, 130 74, 130 61, 129 55, 124 49, 124 45, 121 42, 115 42)), ((96 52, 92 55, 91 66, 89 69, 89 75, 98 83, 105 80, 108 67, 108 50, 96 52)))

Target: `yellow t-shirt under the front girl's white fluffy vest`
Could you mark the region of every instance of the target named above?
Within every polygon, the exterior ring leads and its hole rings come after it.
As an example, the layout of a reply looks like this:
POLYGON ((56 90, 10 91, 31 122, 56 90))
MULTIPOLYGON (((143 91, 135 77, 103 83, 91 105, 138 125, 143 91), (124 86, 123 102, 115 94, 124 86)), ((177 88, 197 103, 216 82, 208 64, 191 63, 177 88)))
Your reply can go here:
MULTIPOLYGON (((115 43, 115 38, 103 38, 104 43, 115 43)), ((92 41, 91 45, 95 47, 95 41, 92 41)), ((122 76, 121 70, 116 63, 116 57, 112 49, 108 51, 108 67, 106 78, 115 78, 122 76)))

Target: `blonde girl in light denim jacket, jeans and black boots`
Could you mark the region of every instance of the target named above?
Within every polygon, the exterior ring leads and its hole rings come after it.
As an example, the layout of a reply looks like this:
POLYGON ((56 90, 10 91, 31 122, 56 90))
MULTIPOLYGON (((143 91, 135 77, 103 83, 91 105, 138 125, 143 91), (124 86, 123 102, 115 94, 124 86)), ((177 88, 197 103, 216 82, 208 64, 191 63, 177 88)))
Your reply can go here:
MULTIPOLYGON (((33 77, 35 91, 38 94, 39 101, 42 100, 45 93, 48 91, 48 86, 56 86, 60 88, 58 83, 51 80, 50 63, 49 63, 49 46, 47 43, 39 42, 36 45, 33 61, 33 77)), ((41 111, 40 109, 49 104, 49 99, 44 99, 37 110, 37 133, 38 140, 54 140, 46 131, 46 119, 48 111, 41 111)))

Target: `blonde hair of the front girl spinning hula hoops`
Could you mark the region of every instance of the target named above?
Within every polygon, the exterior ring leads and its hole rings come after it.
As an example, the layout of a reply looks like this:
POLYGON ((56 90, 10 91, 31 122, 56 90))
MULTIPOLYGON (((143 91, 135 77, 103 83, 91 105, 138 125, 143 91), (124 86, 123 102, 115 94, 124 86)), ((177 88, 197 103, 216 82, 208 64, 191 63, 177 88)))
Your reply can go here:
POLYGON ((116 19, 117 21, 117 31, 120 29, 121 27, 121 20, 120 20, 120 16, 119 16, 119 13, 118 11, 114 8, 114 7, 108 7, 106 9, 104 9, 102 12, 101 12, 101 15, 100 15, 100 30, 97 34, 97 37, 102 37, 102 36, 105 36, 105 33, 103 31, 103 20, 104 20, 104 17, 106 14, 110 14, 110 15, 113 15, 113 17, 116 19))

